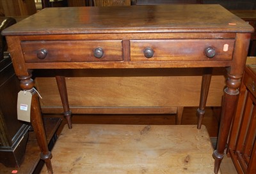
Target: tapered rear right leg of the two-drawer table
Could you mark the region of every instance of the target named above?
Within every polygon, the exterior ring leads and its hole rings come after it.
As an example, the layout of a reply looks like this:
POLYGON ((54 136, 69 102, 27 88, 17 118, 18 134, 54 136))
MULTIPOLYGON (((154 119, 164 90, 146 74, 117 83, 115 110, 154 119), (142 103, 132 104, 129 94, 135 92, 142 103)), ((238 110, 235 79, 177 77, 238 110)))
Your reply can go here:
POLYGON ((211 78, 212 78, 212 68, 204 68, 204 72, 202 76, 202 84, 201 84, 200 104, 199 104, 199 108, 196 111, 196 115, 198 117, 197 129, 201 129, 201 126, 202 126, 202 120, 205 114, 205 105, 206 105, 207 96, 210 88, 211 78))

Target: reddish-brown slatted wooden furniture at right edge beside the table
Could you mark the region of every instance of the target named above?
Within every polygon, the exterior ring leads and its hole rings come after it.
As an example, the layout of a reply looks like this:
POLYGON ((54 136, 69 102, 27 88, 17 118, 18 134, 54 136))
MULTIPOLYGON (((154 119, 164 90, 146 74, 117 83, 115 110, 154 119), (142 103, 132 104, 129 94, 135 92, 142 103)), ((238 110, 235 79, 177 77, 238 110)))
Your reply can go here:
POLYGON ((246 66, 228 154, 239 174, 256 173, 256 64, 246 66))

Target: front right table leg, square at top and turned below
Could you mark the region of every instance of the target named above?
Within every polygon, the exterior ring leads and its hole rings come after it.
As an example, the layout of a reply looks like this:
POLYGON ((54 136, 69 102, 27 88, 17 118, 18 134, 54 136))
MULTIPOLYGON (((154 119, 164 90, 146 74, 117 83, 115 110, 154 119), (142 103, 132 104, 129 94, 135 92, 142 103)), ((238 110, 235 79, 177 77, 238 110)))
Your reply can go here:
POLYGON ((224 96, 222 101, 217 148, 212 154, 212 157, 215 160, 214 173, 216 174, 220 170, 220 164, 224 157, 232 118, 234 115, 236 115, 236 106, 239 97, 238 89, 241 85, 241 78, 244 73, 244 65, 246 62, 249 43, 250 34, 238 33, 236 35, 236 48, 234 49, 233 61, 227 69, 227 87, 224 89, 224 96))

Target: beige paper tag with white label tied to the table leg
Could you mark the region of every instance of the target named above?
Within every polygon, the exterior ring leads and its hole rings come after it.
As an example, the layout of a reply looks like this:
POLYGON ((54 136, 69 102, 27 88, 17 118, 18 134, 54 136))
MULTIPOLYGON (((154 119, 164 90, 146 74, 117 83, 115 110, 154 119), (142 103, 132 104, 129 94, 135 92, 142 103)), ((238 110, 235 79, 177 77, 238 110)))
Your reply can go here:
POLYGON ((18 93, 18 101, 17 101, 18 120, 30 122, 31 99, 32 99, 31 92, 20 91, 18 93))

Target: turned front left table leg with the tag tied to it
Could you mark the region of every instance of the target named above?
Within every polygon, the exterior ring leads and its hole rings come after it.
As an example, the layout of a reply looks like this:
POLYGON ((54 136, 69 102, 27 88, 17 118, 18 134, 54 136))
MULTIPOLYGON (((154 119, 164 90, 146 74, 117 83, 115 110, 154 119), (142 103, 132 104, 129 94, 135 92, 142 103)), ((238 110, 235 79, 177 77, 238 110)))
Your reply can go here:
POLYGON ((40 111, 40 105, 38 101, 38 96, 36 94, 34 87, 34 81, 31 79, 31 74, 29 76, 19 76, 20 87, 29 91, 32 94, 31 98, 31 125, 33 126, 34 132, 36 134, 36 140, 40 147, 41 159, 45 161, 47 170, 49 174, 53 173, 51 158, 52 154, 48 149, 48 143, 45 135, 44 123, 42 120, 42 115, 40 111))

